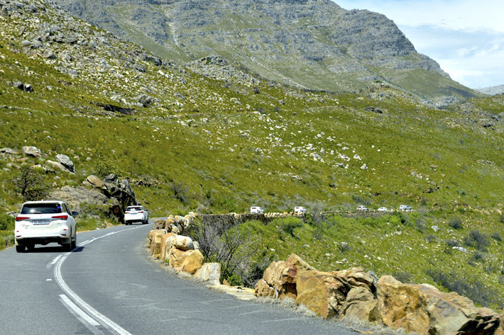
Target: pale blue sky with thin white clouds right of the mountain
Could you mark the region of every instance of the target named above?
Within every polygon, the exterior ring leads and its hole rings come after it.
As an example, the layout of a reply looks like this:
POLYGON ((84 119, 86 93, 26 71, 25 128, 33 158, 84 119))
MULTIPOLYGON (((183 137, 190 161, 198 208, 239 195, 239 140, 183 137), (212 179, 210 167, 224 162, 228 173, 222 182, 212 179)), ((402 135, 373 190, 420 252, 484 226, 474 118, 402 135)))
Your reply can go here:
POLYGON ((334 0, 393 20, 415 45, 459 83, 504 84, 504 0, 334 0))

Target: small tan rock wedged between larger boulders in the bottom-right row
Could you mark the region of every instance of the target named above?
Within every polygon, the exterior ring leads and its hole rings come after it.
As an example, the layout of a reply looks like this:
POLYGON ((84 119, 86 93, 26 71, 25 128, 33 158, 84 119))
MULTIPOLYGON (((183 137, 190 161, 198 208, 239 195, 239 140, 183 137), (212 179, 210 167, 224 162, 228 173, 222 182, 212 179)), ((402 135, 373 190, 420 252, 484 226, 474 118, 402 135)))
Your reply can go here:
POLYGON ((356 317, 366 322, 380 322, 378 300, 370 290, 363 287, 351 288, 339 314, 342 317, 356 317))

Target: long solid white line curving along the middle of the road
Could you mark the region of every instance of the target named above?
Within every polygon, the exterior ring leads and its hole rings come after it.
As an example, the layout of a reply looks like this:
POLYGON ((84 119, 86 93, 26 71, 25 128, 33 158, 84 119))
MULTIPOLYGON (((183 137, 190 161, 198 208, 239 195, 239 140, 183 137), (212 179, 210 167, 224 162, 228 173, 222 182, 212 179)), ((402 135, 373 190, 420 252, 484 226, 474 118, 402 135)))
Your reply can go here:
MULTIPOLYGON (((145 227, 145 226, 143 226, 143 227, 145 227)), ((119 232, 126 232, 126 230, 129 230, 129 229, 138 229, 138 227, 124 229, 119 232)), ((108 237, 108 236, 111 236, 116 233, 118 233, 118 232, 111 232, 109 234, 105 234, 101 237, 97 237, 96 239, 92 239, 90 241, 87 241, 84 244, 89 244, 90 242, 94 242, 97 239, 102 239, 103 237, 108 237)), ((79 244, 79 245, 82 246, 83 244, 79 244)), ((101 324, 103 327, 105 327, 106 329, 111 331, 111 333, 117 334, 117 335, 131 335, 131 333, 129 333, 126 329, 119 326, 119 324, 116 324, 115 322, 111 321, 111 319, 109 319, 108 317, 104 316, 103 314, 101 314, 100 312, 95 310, 93 307, 91 307, 87 302, 82 300, 81 297, 79 297, 77 294, 75 294, 74 291, 72 291, 68 287, 67 283, 65 283, 65 280, 63 280, 63 277, 61 275, 61 265, 65 261, 65 259, 67 259, 67 257, 70 256, 70 254, 72 254, 72 252, 67 252, 66 254, 62 255, 62 257, 59 260, 57 260, 57 262, 56 262, 56 266, 54 267, 54 277, 57 282, 57 285, 60 285, 60 288, 70 298, 72 298, 72 300, 75 302, 75 304, 77 306, 80 307, 80 309, 84 310, 87 314, 89 314, 91 316, 92 319, 95 320, 95 322, 99 322, 99 324, 101 324)), ((88 315, 88 317, 89 317, 89 315, 88 315)), ((77 318, 77 319, 79 319, 81 321, 84 320, 83 318, 77 318)), ((82 323, 84 323, 84 325, 86 324, 85 322, 82 322, 82 323)), ((97 329, 97 330, 99 330, 99 329, 97 329)))

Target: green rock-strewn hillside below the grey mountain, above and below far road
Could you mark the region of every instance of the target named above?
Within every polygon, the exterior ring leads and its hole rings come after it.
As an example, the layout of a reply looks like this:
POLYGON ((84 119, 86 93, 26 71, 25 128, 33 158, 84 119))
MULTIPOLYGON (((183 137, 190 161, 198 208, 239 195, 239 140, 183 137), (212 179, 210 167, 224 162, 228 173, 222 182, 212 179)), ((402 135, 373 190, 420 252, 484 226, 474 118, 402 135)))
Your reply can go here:
MULTIPOLYGON (((21 207, 23 164, 40 166, 52 189, 119 174, 150 217, 407 204, 429 212, 237 229, 261 233, 273 258, 459 283, 502 306, 502 95, 434 109, 380 81, 360 93, 292 89, 219 57, 181 67, 44 1, 0 5, 0 147, 18 152, 0 154, 2 212, 21 207), (50 169, 57 154, 77 173, 50 169)), ((2 247, 11 217, 0 228, 2 247)))

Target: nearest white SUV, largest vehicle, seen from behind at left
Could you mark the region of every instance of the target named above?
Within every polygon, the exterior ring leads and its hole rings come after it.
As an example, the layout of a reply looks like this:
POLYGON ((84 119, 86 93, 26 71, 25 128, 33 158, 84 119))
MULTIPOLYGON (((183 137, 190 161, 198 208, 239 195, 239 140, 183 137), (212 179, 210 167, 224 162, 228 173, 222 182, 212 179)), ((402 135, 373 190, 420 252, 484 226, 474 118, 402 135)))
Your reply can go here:
POLYGON ((57 242, 65 251, 77 246, 74 216, 62 201, 29 201, 23 203, 16 217, 14 239, 16 251, 33 250, 35 244, 57 242))

